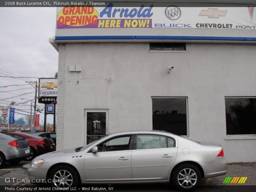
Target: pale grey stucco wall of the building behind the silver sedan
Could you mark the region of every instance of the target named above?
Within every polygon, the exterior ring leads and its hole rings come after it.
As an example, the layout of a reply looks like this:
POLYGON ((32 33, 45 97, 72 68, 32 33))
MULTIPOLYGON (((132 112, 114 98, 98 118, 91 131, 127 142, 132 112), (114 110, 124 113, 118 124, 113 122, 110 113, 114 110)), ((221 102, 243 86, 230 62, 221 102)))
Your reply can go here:
POLYGON ((84 146, 85 109, 108 109, 109 133, 152 130, 152 97, 186 97, 189 138, 221 144, 228 162, 255 161, 255 136, 227 140, 225 97, 256 96, 256 45, 187 43, 186 50, 152 53, 147 42, 61 44, 57 149, 84 146), (82 71, 70 72, 70 65, 82 71))

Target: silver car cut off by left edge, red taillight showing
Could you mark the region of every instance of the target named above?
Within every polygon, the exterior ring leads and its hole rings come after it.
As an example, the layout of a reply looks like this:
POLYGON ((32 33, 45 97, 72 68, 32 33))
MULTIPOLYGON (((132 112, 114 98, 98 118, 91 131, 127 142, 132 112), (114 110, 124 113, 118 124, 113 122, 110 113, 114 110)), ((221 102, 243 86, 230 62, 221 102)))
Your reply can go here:
POLYGON ((0 169, 5 162, 18 164, 24 157, 29 156, 30 148, 27 139, 14 139, 11 136, 0 133, 0 169))

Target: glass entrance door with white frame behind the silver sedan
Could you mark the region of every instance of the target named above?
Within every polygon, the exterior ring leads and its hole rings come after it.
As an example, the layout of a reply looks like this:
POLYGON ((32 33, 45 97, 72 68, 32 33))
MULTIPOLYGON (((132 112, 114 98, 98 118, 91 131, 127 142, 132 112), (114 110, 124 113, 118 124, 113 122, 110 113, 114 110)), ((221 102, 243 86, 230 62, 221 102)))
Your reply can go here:
POLYGON ((108 110, 85 110, 86 145, 108 134, 108 110))

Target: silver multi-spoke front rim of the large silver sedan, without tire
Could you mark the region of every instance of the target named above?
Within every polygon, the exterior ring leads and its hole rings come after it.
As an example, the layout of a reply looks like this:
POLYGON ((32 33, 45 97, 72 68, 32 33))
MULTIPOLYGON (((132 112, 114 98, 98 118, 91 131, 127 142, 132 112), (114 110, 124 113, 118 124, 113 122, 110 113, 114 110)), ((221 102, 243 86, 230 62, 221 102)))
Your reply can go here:
POLYGON ((70 187, 73 183, 73 176, 67 170, 59 170, 53 175, 52 182, 56 187, 70 187))

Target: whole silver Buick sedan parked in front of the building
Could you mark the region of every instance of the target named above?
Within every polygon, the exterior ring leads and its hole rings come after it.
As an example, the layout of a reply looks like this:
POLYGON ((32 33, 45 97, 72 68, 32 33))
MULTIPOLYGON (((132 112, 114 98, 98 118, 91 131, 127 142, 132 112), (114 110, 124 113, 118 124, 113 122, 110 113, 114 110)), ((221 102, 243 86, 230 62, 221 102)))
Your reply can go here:
POLYGON ((192 190, 201 178, 227 173, 220 145, 199 143, 169 132, 111 133, 84 147, 36 157, 30 179, 57 187, 81 183, 166 183, 192 190))

